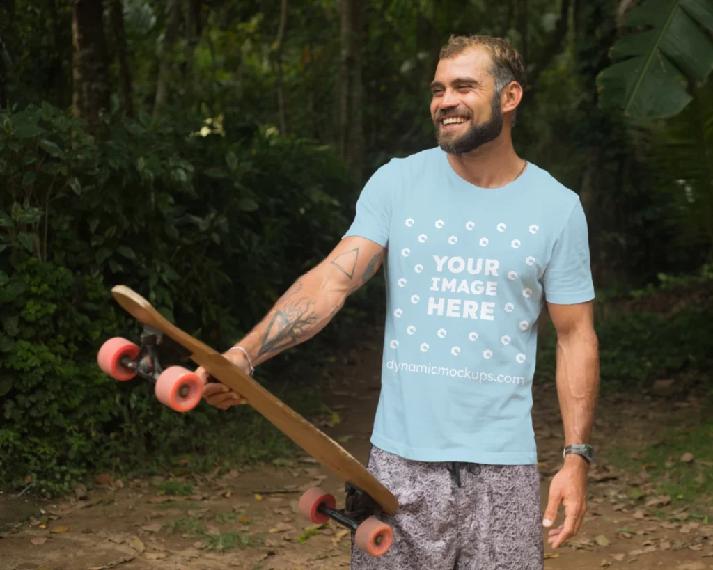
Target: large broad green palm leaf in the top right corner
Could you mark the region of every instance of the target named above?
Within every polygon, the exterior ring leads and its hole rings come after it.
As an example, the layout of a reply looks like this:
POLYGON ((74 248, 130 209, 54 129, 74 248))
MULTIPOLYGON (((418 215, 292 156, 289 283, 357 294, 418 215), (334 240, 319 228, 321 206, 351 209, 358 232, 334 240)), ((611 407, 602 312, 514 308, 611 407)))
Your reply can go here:
POLYGON ((633 27, 611 48, 615 63, 597 76, 601 108, 637 118, 665 118, 692 99, 689 81, 713 68, 713 1, 646 0, 622 22, 633 27))

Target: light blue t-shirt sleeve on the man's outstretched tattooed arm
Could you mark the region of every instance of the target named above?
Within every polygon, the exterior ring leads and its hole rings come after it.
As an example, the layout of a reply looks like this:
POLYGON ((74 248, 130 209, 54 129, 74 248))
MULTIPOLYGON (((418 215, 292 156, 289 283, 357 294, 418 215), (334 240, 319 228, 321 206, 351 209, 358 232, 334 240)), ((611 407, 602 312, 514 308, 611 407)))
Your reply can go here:
POLYGON ((386 247, 391 227, 392 193, 400 185, 399 165, 394 160, 379 167, 361 190, 354 221, 343 237, 365 237, 386 247))

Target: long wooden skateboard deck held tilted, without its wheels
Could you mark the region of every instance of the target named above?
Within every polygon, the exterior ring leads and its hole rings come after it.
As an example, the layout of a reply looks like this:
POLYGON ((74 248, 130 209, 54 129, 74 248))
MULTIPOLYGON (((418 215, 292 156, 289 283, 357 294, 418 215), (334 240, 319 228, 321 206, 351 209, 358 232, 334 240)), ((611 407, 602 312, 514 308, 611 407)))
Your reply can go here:
POLYGON ((260 383, 250 378, 210 346, 198 341, 164 318, 146 299, 126 286, 113 287, 111 293, 125 311, 141 323, 164 333, 190 351, 190 358, 199 366, 239 393, 255 410, 270 420, 304 451, 341 480, 358 487, 376 501, 387 514, 395 514, 399 502, 389 489, 366 470, 341 445, 327 434, 302 418, 260 383))

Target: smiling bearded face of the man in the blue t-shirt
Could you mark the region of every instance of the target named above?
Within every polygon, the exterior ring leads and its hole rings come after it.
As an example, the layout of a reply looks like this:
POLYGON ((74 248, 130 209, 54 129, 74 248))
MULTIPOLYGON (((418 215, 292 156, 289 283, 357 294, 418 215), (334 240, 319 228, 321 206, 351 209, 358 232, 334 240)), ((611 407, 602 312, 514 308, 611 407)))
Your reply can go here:
POLYGON ((498 138, 503 130, 492 65, 488 51, 480 48, 438 62, 431 83, 431 118, 438 146, 445 152, 471 152, 498 138))

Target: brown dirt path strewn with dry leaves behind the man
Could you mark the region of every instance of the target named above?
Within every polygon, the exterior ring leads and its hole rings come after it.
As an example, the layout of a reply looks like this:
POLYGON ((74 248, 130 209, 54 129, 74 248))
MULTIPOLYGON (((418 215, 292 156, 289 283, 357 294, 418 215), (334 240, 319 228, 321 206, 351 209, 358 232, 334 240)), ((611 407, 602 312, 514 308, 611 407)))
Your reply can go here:
MULTIPOLYGON (((379 395, 379 361, 379 351, 374 350, 362 354, 361 361, 335 364, 334 371, 326 373, 333 378, 330 404, 342 419, 327 431, 363 462, 379 395)), ((622 447, 637 450, 655 442, 666 423, 685 425, 699 419, 694 399, 673 405, 670 397, 617 396, 602 398, 599 410, 595 437, 602 454, 622 447)), ((535 387, 534 418, 544 505, 550 477, 560 466, 563 440, 553 385, 535 387)), ((545 568, 713 569, 713 526, 704 524, 707 519, 689 517, 693 511, 712 512, 711 497, 690 508, 672 509, 665 505, 666 498, 658 497, 648 507, 641 500, 635 504, 627 492, 636 487, 650 495, 647 475, 645 470, 627 475, 597 462, 590 473, 589 512, 583 529, 556 552, 545 547, 545 568), (650 514, 657 507, 663 518, 650 514)), ((35 503, 36 507, 24 497, 0 494, 0 525, 16 523, 0 534, 0 566, 7 570, 349 567, 349 536, 341 527, 329 524, 307 532, 309 525, 295 515, 300 490, 313 484, 342 497, 341 484, 309 458, 259 470, 188 474, 170 480, 123 481, 121 488, 91 489, 83 500, 70 497, 35 503), (162 488, 190 495, 160 494, 162 488), (42 528, 43 517, 48 517, 46 528, 42 528)), ((560 512, 557 524, 562 517, 560 512)))

